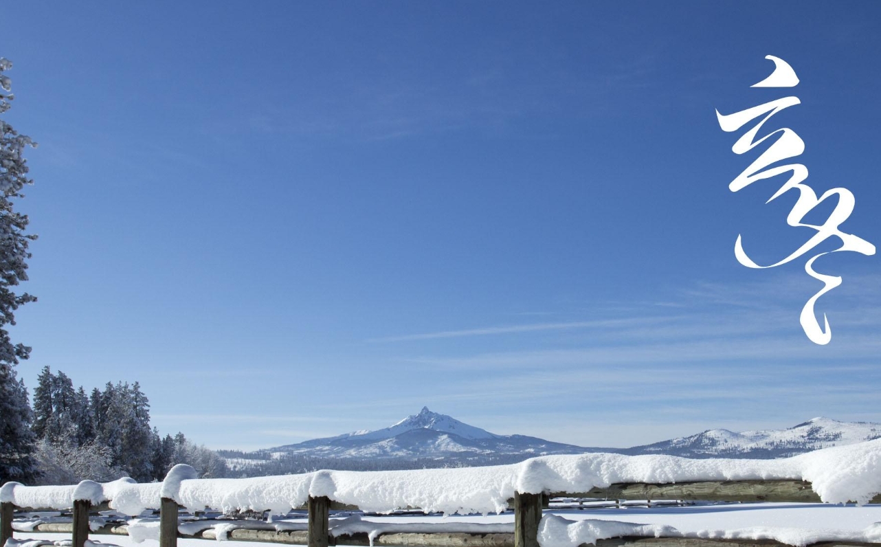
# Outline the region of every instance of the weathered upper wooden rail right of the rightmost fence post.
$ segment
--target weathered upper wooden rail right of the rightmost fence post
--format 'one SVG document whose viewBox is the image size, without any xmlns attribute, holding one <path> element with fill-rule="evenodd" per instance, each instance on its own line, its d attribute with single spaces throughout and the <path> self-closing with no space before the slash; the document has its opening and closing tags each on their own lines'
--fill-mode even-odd
<svg viewBox="0 0 881 547">
<path fill-rule="evenodd" d="M 611 484 L 590 492 L 558 492 L 552 498 L 685 499 L 707 501 L 775 501 L 819 503 L 811 483 L 796 480 L 706 481 L 677 484 Z M 881 494 L 870 503 L 881 503 Z"/>
</svg>

